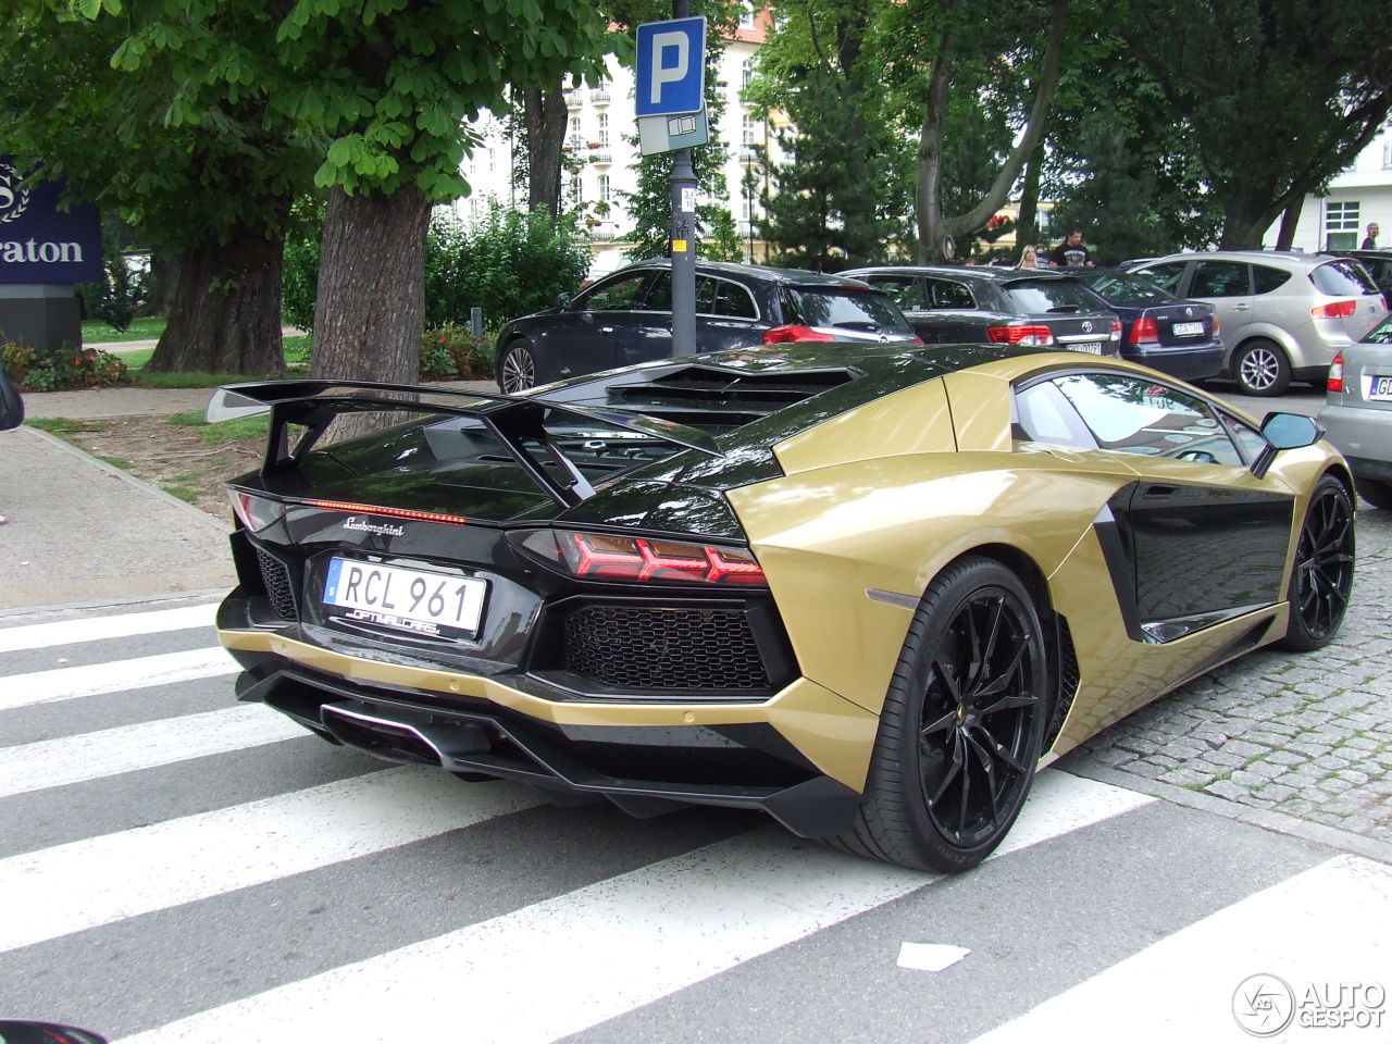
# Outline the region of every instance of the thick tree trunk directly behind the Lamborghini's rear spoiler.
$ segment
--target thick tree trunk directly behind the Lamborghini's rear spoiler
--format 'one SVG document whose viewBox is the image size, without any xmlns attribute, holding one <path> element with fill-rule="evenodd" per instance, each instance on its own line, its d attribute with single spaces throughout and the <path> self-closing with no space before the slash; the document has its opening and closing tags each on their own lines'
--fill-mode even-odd
<svg viewBox="0 0 1392 1044">
<path fill-rule="evenodd" d="M 415 187 L 329 192 L 310 376 L 416 381 L 429 227 L 430 203 Z"/>
</svg>

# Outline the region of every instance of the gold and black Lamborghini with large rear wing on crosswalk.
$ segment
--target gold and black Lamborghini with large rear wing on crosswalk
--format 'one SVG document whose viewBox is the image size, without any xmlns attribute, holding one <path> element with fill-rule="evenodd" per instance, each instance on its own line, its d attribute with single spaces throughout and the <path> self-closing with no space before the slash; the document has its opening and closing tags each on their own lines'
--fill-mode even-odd
<svg viewBox="0 0 1392 1044">
<path fill-rule="evenodd" d="M 1011 345 L 778 345 L 526 395 L 333 381 L 231 483 L 238 696 L 638 816 L 763 809 L 912 867 L 1217 664 L 1317 649 L 1352 482 L 1310 418 Z M 330 441 L 335 418 L 388 413 Z"/>
</svg>

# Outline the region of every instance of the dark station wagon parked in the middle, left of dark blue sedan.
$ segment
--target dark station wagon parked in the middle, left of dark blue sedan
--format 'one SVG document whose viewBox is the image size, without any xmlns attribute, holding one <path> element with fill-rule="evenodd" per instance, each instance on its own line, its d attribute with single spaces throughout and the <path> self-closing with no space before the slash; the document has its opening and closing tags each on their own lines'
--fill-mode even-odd
<svg viewBox="0 0 1392 1044">
<path fill-rule="evenodd" d="M 876 267 L 841 273 L 889 294 L 927 344 L 1030 344 L 1116 355 L 1121 323 L 1075 273 Z"/>
</svg>

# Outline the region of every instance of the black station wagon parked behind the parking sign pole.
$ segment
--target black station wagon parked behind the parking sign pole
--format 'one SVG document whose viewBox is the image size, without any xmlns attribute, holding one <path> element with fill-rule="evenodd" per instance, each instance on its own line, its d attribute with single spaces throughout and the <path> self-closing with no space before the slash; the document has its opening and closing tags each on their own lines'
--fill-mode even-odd
<svg viewBox="0 0 1392 1044">
<path fill-rule="evenodd" d="M 839 276 L 760 264 L 696 263 L 696 351 L 793 341 L 912 341 L 883 291 Z M 498 387 L 514 394 L 564 377 L 672 354 L 671 262 L 629 264 L 498 334 Z"/>
</svg>

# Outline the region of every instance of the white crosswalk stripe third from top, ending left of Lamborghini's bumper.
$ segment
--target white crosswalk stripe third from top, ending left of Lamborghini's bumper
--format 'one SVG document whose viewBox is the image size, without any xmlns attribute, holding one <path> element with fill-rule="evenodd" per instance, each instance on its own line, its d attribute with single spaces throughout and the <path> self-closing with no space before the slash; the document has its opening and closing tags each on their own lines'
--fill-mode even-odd
<svg viewBox="0 0 1392 1044">
<path fill-rule="evenodd" d="M 259 703 L 0 748 L 0 798 L 308 736 Z"/>
</svg>

